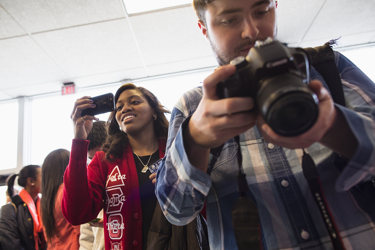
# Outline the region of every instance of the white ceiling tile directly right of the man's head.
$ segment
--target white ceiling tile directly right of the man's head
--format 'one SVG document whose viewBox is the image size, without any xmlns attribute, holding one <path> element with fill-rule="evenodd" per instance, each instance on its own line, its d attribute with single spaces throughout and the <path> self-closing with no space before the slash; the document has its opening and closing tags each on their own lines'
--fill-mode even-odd
<svg viewBox="0 0 375 250">
<path fill-rule="evenodd" d="M 286 43 L 298 42 L 323 3 L 324 0 L 279 0 L 276 8 L 278 39 Z"/>
</svg>

